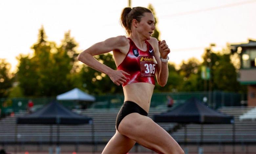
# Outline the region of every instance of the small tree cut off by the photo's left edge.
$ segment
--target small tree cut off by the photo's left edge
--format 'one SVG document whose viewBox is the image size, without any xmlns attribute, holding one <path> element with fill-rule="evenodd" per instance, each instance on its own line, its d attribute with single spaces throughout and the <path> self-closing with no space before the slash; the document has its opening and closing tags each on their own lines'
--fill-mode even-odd
<svg viewBox="0 0 256 154">
<path fill-rule="evenodd" d="M 8 89 L 11 88 L 13 78 L 10 73 L 11 64 L 5 59 L 0 59 L 0 98 L 8 96 Z"/>
</svg>

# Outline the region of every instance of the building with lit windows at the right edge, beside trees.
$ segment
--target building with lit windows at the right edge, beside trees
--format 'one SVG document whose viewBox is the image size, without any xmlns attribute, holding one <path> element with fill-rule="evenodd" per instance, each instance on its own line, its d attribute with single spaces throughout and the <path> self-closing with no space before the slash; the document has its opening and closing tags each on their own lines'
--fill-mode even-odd
<svg viewBox="0 0 256 154">
<path fill-rule="evenodd" d="M 238 80 L 247 85 L 247 104 L 256 106 L 256 41 L 248 40 L 248 43 L 232 44 L 231 52 L 240 55 L 241 67 Z"/>
</svg>

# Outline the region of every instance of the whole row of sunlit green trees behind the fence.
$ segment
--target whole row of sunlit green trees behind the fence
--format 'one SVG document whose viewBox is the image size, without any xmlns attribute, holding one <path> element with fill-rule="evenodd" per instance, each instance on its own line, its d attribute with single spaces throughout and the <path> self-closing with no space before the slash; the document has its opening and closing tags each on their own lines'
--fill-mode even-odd
<svg viewBox="0 0 256 154">
<path fill-rule="evenodd" d="M 154 12 L 152 6 L 149 6 Z M 157 38 L 159 35 L 157 35 Z M 20 55 L 15 77 L 10 75 L 10 64 L 0 59 L 0 97 L 20 96 L 56 96 L 74 87 L 90 94 L 123 93 L 122 86 L 115 85 L 104 73 L 77 62 L 78 44 L 70 31 L 64 34 L 61 44 L 47 41 L 44 28 L 39 29 L 38 40 L 32 45 L 33 55 Z M 244 86 L 237 81 L 237 71 L 231 62 L 229 53 L 212 52 L 206 48 L 203 62 L 195 58 L 183 61 L 180 68 L 168 63 L 168 81 L 166 86 L 155 86 L 154 92 L 203 91 L 207 90 L 241 91 Z M 113 54 L 94 56 L 100 63 L 117 69 Z M 201 67 L 210 67 L 210 81 L 201 78 Z M 17 87 L 11 85 L 15 81 Z M 210 87 L 209 87 L 209 83 Z"/>
</svg>

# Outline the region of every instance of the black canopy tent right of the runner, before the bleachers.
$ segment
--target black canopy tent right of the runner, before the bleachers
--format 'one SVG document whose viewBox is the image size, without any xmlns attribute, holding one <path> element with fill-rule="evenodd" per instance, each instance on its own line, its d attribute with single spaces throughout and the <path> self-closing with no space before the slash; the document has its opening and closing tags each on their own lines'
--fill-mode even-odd
<svg viewBox="0 0 256 154">
<path fill-rule="evenodd" d="M 186 145 L 186 124 L 201 124 L 201 141 L 203 142 L 203 124 L 233 124 L 233 143 L 235 141 L 234 117 L 228 116 L 204 105 L 195 97 L 187 100 L 183 105 L 174 110 L 154 115 L 156 123 L 181 123 L 184 125 L 184 143 Z"/>
</svg>

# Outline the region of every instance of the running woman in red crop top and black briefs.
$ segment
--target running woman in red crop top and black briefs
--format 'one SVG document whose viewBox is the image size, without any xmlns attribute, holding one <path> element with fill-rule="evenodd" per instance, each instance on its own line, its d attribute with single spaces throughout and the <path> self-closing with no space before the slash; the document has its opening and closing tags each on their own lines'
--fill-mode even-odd
<svg viewBox="0 0 256 154">
<path fill-rule="evenodd" d="M 126 36 L 98 42 L 81 52 L 78 60 L 107 74 L 117 85 L 122 85 L 124 104 L 116 120 L 116 134 L 102 154 L 126 154 L 137 142 L 162 154 L 184 154 L 180 145 L 163 128 L 147 117 L 155 87 L 168 79 L 166 42 L 151 35 L 156 29 L 153 13 L 143 7 L 124 8 L 120 21 Z M 101 64 L 93 56 L 113 51 L 117 70 Z"/>
</svg>

